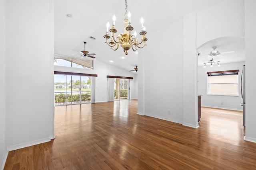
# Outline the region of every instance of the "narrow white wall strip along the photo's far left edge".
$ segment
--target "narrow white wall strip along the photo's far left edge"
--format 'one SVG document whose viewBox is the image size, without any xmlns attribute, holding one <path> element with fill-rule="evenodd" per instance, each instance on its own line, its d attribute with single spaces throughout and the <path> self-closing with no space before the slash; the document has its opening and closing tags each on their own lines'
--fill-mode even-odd
<svg viewBox="0 0 256 170">
<path fill-rule="evenodd" d="M 0 0 L 0 169 L 4 168 L 6 150 L 6 107 L 5 107 L 5 0 Z"/>
</svg>

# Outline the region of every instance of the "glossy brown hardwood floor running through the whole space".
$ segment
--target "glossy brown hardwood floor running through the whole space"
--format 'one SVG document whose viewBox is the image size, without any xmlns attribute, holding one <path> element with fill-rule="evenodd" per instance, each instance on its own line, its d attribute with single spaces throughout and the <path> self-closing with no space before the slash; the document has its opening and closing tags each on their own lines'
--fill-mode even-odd
<svg viewBox="0 0 256 170">
<path fill-rule="evenodd" d="M 256 169 L 241 111 L 202 107 L 198 129 L 136 113 L 136 100 L 55 107 L 56 139 L 9 152 L 4 170 Z"/>
</svg>

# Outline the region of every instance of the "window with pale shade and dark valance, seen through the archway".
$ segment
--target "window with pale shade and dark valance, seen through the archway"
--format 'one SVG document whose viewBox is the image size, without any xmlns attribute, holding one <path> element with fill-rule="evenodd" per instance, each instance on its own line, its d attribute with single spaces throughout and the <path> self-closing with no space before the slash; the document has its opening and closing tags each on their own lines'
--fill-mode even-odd
<svg viewBox="0 0 256 170">
<path fill-rule="evenodd" d="M 207 72 L 208 95 L 238 96 L 238 71 Z"/>
</svg>

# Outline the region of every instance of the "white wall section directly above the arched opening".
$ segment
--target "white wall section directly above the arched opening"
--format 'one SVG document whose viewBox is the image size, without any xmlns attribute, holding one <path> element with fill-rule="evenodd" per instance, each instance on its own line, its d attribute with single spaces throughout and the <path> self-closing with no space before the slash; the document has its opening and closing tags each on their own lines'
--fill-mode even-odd
<svg viewBox="0 0 256 170">
<path fill-rule="evenodd" d="M 244 37 L 244 0 L 224 0 L 197 12 L 197 47 L 226 36 Z"/>
</svg>

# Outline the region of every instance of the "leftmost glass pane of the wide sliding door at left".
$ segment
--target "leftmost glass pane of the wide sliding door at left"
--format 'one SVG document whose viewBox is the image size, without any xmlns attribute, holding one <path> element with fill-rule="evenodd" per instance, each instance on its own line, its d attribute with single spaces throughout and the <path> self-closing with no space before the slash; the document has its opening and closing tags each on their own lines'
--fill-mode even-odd
<svg viewBox="0 0 256 170">
<path fill-rule="evenodd" d="M 55 106 L 66 104 L 66 75 L 54 75 Z"/>
</svg>

